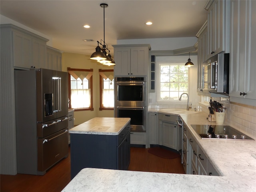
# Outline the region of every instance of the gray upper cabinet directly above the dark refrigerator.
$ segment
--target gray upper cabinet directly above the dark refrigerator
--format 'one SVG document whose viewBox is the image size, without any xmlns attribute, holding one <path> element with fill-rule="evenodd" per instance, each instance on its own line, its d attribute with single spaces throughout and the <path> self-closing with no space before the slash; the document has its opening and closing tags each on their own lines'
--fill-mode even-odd
<svg viewBox="0 0 256 192">
<path fill-rule="evenodd" d="M 3 46 L 12 53 L 9 62 L 13 61 L 14 68 L 45 67 L 48 39 L 12 24 L 1 25 L 1 34 L 5 36 Z"/>
</svg>

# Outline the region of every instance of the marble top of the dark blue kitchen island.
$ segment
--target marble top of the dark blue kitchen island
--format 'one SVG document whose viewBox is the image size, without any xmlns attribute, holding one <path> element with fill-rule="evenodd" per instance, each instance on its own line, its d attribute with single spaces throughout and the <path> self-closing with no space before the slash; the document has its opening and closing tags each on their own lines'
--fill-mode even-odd
<svg viewBox="0 0 256 192">
<path fill-rule="evenodd" d="M 71 134 L 118 135 L 130 120 L 130 118 L 96 117 L 75 126 L 69 132 Z"/>
</svg>

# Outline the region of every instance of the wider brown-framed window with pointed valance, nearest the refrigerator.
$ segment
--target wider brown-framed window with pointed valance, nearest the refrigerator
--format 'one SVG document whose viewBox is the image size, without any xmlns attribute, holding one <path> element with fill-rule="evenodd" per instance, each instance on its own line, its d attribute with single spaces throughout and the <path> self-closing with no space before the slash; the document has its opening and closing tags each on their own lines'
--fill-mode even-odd
<svg viewBox="0 0 256 192">
<path fill-rule="evenodd" d="M 69 108 L 74 110 L 93 110 L 92 72 L 93 69 L 68 68 Z"/>
</svg>

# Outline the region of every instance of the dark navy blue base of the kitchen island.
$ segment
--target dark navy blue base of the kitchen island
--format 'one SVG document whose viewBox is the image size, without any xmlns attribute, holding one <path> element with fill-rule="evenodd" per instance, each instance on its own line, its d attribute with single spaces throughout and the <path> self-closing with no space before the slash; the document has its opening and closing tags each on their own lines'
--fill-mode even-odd
<svg viewBox="0 0 256 192">
<path fill-rule="evenodd" d="M 130 124 L 118 135 L 70 134 L 71 179 L 83 168 L 127 170 Z"/>
</svg>

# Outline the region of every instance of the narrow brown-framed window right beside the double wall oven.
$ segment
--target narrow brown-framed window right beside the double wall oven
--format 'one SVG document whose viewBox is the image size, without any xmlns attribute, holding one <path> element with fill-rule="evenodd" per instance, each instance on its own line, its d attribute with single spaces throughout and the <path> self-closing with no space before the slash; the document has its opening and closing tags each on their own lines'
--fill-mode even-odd
<svg viewBox="0 0 256 192">
<path fill-rule="evenodd" d="M 114 70 L 99 69 L 100 110 L 114 110 Z"/>
</svg>

